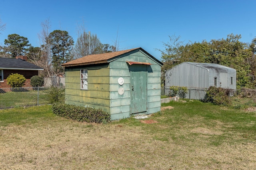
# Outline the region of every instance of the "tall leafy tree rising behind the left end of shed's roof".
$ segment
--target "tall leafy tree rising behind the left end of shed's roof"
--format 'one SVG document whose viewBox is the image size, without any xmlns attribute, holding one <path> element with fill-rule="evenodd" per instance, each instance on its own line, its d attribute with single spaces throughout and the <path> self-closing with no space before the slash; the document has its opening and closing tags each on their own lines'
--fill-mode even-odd
<svg viewBox="0 0 256 170">
<path fill-rule="evenodd" d="M 74 41 L 67 31 L 54 30 L 49 35 L 51 51 L 52 51 L 52 66 L 55 73 L 62 72 L 61 64 L 72 59 L 71 49 Z"/>
</svg>

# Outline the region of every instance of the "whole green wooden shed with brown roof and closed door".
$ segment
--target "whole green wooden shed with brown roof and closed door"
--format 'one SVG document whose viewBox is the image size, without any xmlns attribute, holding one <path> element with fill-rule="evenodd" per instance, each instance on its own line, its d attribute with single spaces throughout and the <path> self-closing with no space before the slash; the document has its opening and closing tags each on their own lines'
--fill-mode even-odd
<svg viewBox="0 0 256 170">
<path fill-rule="evenodd" d="M 112 120 L 156 113 L 161 107 L 162 65 L 142 48 L 64 63 L 66 104 L 100 108 Z"/>
</svg>

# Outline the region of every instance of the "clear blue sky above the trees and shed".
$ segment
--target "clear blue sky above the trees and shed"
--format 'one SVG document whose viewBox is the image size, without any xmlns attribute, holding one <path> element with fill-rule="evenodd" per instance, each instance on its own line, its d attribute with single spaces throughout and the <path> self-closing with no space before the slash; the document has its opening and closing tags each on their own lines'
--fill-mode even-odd
<svg viewBox="0 0 256 170">
<path fill-rule="evenodd" d="M 50 31 L 68 31 L 74 41 L 84 23 L 102 43 L 112 45 L 118 35 L 120 50 L 142 47 L 161 60 L 156 49 L 163 50 L 174 34 L 187 43 L 233 33 L 250 43 L 256 37 L 255 7 L 255 0 L 0 0 L 6 23 L 0 44 L 16 33 L 38 47 L 41 23 L 49 19 Z"/>
</svg>

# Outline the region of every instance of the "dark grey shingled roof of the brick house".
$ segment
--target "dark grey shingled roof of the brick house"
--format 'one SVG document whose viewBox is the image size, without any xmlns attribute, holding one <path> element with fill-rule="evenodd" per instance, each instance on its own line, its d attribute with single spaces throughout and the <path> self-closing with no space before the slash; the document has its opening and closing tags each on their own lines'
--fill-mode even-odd
<svg viewBox="0 0 256 170">
<path fill-rule="evenodd" d="M 28 63 L 21 59 L 0 58 L 0 69 L 12 70 L 44 70 L 35 64 Z"/>
</svg>

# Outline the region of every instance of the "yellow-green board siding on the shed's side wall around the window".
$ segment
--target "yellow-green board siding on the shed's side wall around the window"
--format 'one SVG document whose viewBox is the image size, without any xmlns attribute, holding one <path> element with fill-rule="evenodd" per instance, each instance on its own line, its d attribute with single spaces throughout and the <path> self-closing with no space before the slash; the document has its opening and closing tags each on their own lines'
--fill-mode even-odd
<svg viewBox="0 0 256 170">
<path fill-rule="evenodd" d="M 88 69 L 88 90 L 81 90 L 80 69 Z M 110 113 L 108 64 L 65 68 L 66 104 L 101 108 Z"/>
</svg>

